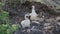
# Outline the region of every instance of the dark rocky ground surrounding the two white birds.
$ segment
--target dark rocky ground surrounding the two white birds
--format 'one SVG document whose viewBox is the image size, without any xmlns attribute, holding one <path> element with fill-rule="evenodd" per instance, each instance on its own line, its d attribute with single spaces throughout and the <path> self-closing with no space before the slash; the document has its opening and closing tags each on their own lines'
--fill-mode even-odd
<svg viewBox="0 0 60 34">
<path fill-rule="evenodd" d="M 13 3 L 12 3 L 13 4 Z M 31 13 L 31 6 L 35 5 L 36 13 L 40 16 L 45 16 L 40 24 L 31 23 L 28 29 L 20 28 L 14 34 L 60 34 L 60 15 L 56 13 L 52 7 L 48 7 L 40 2 L 25 2 L 18 4 L 16 7 L 11 7 L 8 3 L 3 7 L 3 10 L 9 12 L 12 24 L 20 24 L 24 20 L 26 13 Z M 41 12 L 43 15 L 41 15 Z"/>
</svg>

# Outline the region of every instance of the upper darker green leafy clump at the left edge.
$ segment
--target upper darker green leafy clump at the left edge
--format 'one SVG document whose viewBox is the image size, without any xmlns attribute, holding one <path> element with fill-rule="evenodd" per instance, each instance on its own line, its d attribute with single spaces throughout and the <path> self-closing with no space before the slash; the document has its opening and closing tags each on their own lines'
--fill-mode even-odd
<svg viewBox="0 0 60 34">
<path fill-rule="evenodd" d="M 9 23 L 10 20 L 9 20 L 9 13 L 7 11 L 1 11 L 0 13 L 0 21 L 2 23 Z"/>
</svg>

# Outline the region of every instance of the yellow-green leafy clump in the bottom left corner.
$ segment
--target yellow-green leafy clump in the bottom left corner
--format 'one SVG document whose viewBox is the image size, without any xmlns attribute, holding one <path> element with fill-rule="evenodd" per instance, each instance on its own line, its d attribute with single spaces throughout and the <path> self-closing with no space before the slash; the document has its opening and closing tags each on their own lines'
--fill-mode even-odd
<svg viewBox="0 0 60 34">
<path fill-rule="evenodd" d="M 0 25 L 0 34 L 12 34 L 14 31 L 16 31 L 19 28 L 18 24 L 2 24 Z"/>
</svg>

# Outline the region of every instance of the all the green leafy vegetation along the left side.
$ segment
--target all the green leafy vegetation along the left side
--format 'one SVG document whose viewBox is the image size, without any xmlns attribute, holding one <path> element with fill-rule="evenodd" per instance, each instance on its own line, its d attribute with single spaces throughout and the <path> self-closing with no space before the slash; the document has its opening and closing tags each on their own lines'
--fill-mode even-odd
<svg viewBox="0 0 60 34">
<path fill-rule="evenodd" d="M 19 28 L 19 24 L 11 24 L 9 12 L 0 11 L 0 34 L 12 34 Z"/>
</svg>

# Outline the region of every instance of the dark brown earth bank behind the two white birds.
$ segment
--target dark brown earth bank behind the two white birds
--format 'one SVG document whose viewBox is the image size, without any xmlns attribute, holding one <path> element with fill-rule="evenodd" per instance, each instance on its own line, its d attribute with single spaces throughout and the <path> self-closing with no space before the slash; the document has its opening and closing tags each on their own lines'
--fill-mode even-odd
<svg viewBox="0 0 60 34">
<path fill-rule="evenodd" d="M 35 6 L 36 13 L 39 14 L 39 16 L 40 12 L 42 12 L 43 15 L 45 15 L 47 18 L 59 16 L 59 13 L 56 13 L 52 7 L 49 7 L 40 2 L 26 1 L 25 3 L 17 4 L 15 7 L 14 3 L 6 3 L 6 5 L 3 7 L 3 10 L 9 12 L 9 16 L 13 22 L 16 21 L 17 23 L 20 23 L 22 20 L 24 20 L 24 15 L 26 13 L 31 13 L 32 5 Z"/>
</svg>

